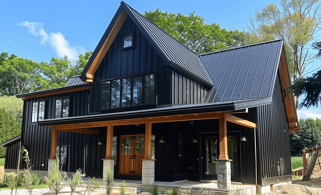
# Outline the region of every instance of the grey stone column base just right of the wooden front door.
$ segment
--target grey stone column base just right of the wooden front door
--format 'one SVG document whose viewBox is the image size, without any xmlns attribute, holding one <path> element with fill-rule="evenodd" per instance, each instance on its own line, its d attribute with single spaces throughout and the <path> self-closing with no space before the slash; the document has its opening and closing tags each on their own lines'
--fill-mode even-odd
<svg viewBox="0 0 321 195">
<path fill-rule="evenodd" d="M 155 159 L 142 159 L 142 184 L 154 184 L 155 182 Z"/>
</svg>

